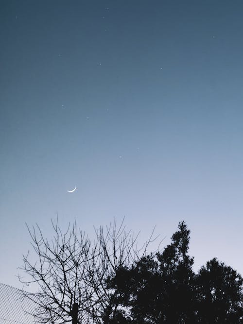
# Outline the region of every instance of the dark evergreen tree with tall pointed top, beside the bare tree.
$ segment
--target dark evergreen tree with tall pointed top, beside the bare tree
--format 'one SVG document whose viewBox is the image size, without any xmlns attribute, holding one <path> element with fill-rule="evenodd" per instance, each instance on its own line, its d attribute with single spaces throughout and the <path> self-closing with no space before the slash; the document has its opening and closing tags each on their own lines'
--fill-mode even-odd
<svg viewBox="0 0 243 324">
<path fill-rule="evenodd" d="M 121 268 L 110 282 L 120 305 L 134 323 L 194 323 L 193 258 L 188 255 L 190 231 L 185 222 L 163 253 L 143 256 L 130 269 Z"/>
</svg>

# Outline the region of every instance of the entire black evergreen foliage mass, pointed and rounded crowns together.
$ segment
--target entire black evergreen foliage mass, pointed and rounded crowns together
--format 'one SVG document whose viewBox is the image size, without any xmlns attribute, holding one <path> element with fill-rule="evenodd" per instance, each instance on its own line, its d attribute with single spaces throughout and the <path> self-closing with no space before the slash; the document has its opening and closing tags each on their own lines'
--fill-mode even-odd
<svg viewBox="0 0 243 324">
<path fill-rule="evenodd" d="M 216 258 L 194 273 L 185 222 L 171 239 L 162 253 L 122 267 L 109 282 L 128 310 L 111 323 L 243 323 L 242 276 Z"/>
</svg>

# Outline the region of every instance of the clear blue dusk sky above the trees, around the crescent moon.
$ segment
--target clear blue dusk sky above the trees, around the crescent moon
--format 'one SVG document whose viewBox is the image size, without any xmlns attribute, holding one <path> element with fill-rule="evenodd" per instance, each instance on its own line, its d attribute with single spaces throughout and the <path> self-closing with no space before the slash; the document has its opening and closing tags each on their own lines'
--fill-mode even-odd
<svg viewBox="0 0 243 324">
<path fill-rule="evenodd" d="M 243 2 L 0 0 L 0 281 L 76 218 L 191 230 L 243 274 Z M 73 193 L 67 192 L 77 187 Z"/>
</svg>

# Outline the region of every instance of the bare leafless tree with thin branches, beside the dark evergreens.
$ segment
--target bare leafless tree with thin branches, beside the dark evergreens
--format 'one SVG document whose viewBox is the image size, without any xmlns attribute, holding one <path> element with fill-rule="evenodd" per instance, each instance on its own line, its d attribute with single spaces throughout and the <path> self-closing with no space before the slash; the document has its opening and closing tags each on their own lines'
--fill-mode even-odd
<svg viewBox="0 0 243 324">
<path fill-rule="evenodd" d="M 109 289 L 107 281 L 122 266 L 129 266 L 145 255 L 149 243 L 154 241 L 154 230 L 138 248 L 138 235 L 125 231 L 123 225 L 95 229 L 96 239 L 91 241 L 77 228 L 76 222 L 63 234 L 52 221 L 54 236 L 44 239 L 39 226 L 28 227 L 32 246 L 37 256 L 30 261 L 23 256 L 23 267 L 28 280 L 19 276 L 24 284 L 37 283 L 38 292 L 25 292 L 35 302 L 35 316 L 39 323 L 108 324 L 114 319 L 119 305 L 116 291 Z"/>
</svg>

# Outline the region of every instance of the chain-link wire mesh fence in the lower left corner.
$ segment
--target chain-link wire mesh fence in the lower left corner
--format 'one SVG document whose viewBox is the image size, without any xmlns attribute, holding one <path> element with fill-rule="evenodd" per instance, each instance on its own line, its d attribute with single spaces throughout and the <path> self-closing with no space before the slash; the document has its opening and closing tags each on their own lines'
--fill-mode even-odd
<svg viewBox="0 0 243 324">
<path fill-rule="evenodd" d="M 23 297 L 23 290 L 0 283 L 0 324 L 34 324 L 35 304 Z"/>
</svg>

